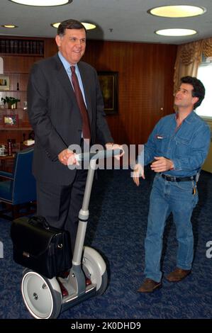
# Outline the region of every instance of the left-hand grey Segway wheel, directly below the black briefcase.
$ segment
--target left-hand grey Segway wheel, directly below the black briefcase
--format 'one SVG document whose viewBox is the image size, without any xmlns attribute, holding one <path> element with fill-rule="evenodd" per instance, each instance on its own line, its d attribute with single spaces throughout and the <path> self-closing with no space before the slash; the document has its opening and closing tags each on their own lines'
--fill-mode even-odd
<svg viewBox="0 0 212 333">
<path fill-rule="evenodd" d="M 56 278 L 48 279 L 26 269 L 21 293 L 28 311 L 36 319 L 53 319 L 60 314 L 62 294 Z"/>
</svg>

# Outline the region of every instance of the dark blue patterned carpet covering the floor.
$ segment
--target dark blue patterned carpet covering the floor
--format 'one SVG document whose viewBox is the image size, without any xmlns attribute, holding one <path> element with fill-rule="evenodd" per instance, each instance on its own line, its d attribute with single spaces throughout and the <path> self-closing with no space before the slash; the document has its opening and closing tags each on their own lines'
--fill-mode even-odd
<svg viewBox="0 0 212 333">
<path fill-rule="evenodd" d="M 91 195 L 86 244 L 99 250 L 108 265 L 109 284 L 104 295 L 90 298 L 60 315 L 68 319 L 177 319 L 212 317 L 212 258 L 206 257 L 206 242 L 212 241 L 212 175 L 204 171 L 199 180 L 199 204 L 194 210 L 194 266 L 180 283 L 168 283 L 143 295 L 144 239 L 152 184 L 152 172 L 137 188 L 130 171 L 100 171 Z M 21 297 L 22 267 L 13 262 L 11 222 L 0 220 L 0 318 L 31 318 Z M 172 217 L 164 233 L 162 271 L 175 266 L 177 241 Z"/>
</svg>

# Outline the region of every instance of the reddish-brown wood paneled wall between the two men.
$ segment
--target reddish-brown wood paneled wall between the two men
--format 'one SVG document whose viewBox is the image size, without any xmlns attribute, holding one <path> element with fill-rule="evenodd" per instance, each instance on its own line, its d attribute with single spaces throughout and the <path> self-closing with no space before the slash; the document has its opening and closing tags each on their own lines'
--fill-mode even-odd
<svg viewBox="0 0 212 333">
<path fill-rule="evenodd" d="M 142 144 L 155 123 L 173 112 L 177 45 L 87 41 L 83 60 L 118 72 L 118 115 L 107 120 L 114 140 Z"/>
</svg>

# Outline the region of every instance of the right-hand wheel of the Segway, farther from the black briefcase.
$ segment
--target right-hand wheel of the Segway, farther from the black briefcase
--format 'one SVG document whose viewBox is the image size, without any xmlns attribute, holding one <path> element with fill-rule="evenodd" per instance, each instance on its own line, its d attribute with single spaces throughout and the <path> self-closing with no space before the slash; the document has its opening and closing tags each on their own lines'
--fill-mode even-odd
<svg viewBox="0 0 212 333">
<path fill-rule="evenodd" d="M 108 286 L 106 263 L 102 256 L 91 247 L 84 247 L 82 269 L 85 275 L 96 284 L 96 295 L 102 295 Z"/>
</svg>

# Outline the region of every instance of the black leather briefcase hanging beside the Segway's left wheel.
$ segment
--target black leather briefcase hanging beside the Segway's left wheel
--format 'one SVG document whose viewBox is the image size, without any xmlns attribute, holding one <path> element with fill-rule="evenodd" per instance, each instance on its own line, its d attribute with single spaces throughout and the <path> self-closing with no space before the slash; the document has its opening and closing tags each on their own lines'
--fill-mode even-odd
<svg viewBox="0 0 212 333">
<path fill-rule="evenodd" d="M 45 218 L 18 218 L 11 225 L 13 259 L 47 278 L 72 266 L 69 232 L 50 227 Z"/>
</svg>

